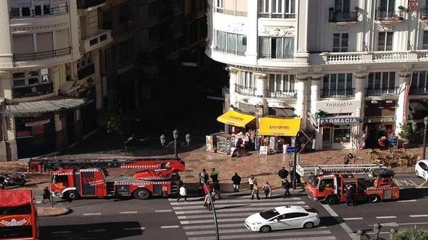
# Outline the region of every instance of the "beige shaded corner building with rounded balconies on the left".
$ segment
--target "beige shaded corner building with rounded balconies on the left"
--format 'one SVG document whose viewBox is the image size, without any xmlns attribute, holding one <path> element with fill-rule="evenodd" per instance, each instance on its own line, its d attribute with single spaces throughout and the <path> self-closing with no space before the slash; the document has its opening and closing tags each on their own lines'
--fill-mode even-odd
<svg viewBox="0 0 428 240">
<path fill-rule="evenodd" d="M 0 161 L 80 143 L 102 108 L 105 0 L 0 1 Z"/>
</svg>

